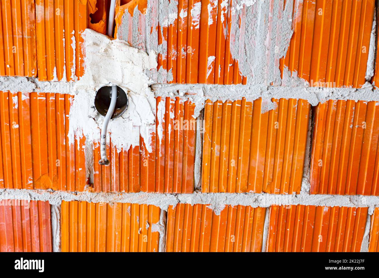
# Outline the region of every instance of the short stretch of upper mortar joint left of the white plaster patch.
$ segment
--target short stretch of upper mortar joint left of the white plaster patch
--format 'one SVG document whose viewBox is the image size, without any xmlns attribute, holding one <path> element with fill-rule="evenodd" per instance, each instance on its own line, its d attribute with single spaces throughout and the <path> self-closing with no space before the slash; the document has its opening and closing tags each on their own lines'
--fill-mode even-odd
<svg viewBox="0 0 379 278">
<path fill-rule="evenodd" d="M 74 94 L 74 83 L 38 81 L 38 79 L 34 77 L 0 76 L 0 90 L 10 92 L 44 92 Z"/>
</svg>

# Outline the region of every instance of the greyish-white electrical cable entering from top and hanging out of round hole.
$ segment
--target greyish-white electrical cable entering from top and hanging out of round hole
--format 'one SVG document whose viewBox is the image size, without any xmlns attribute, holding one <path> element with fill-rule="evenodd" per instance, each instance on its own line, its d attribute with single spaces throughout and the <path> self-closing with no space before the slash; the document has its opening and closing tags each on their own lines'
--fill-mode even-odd
<svg viewBox="0 0 379 278">
<path fill-rule="evenodd" d="M 109 17 L 108 17 L 108 36 L 113 37 L 113 22 L 114 22 L 114 12 L 116 8 L 116 0 L 111 0 L 111 6 L 109 9 Z M 115 85 L 112 85 L 112 96 L 111 96 L 111 104 L 109 106 L 108 112 L 106 112 L 103 126 L 101 127 L 101 134 L 100 134 L 100 156 L 101 159 L 99 160 L 100 165 L 106 165 L 108 166 L 110 164 L 110 161 L 106 157 L 106 130 L 108 129 L 109 121 L 112 118 L 114 107 L 116 107 L 116 100 L 117 100 L 117 87 Z"/>
</svg>

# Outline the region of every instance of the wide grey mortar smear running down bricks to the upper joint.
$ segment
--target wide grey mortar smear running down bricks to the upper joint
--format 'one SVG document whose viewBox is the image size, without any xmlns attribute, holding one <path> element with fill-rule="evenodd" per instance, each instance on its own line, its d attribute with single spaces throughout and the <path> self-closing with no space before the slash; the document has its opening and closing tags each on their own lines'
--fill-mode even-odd
<svg viewBox="0 0 379 278">
<path fill-rule="evenodd" d="M 231 10 L 230 52 L 248 84 L 281 83 L 279 59 L 293 34 L 293 0 L 236 0 Z M 296 11 L 295 11 L 296 12 Z M 251 16 L 241 17 L 242 13 Z"/>
</svg>

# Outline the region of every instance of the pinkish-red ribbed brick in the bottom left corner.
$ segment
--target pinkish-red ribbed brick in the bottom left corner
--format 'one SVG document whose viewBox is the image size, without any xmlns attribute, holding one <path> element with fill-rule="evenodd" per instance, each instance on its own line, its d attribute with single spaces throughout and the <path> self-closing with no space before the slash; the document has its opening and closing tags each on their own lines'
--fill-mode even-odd
<svg viewBox="0 0 379 278">
<path fill-rule="evenodd" d="M 52 252 L 50 204 L 0 200 L 0 252 Z"/>
</svg>

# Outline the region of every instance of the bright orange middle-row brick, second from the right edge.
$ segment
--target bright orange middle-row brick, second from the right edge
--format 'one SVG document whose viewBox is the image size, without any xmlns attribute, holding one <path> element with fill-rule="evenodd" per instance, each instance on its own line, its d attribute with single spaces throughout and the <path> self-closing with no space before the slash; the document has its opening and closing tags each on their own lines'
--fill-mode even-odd
<svg viewBox="0 0 379 278">
<path fill-rule="evenodd" d="M 273 99 L 261 113 L 254 102 L 207 100 L 202 191 L 299 193 L 310 105 L 302 99 Z"/>
</svg>

